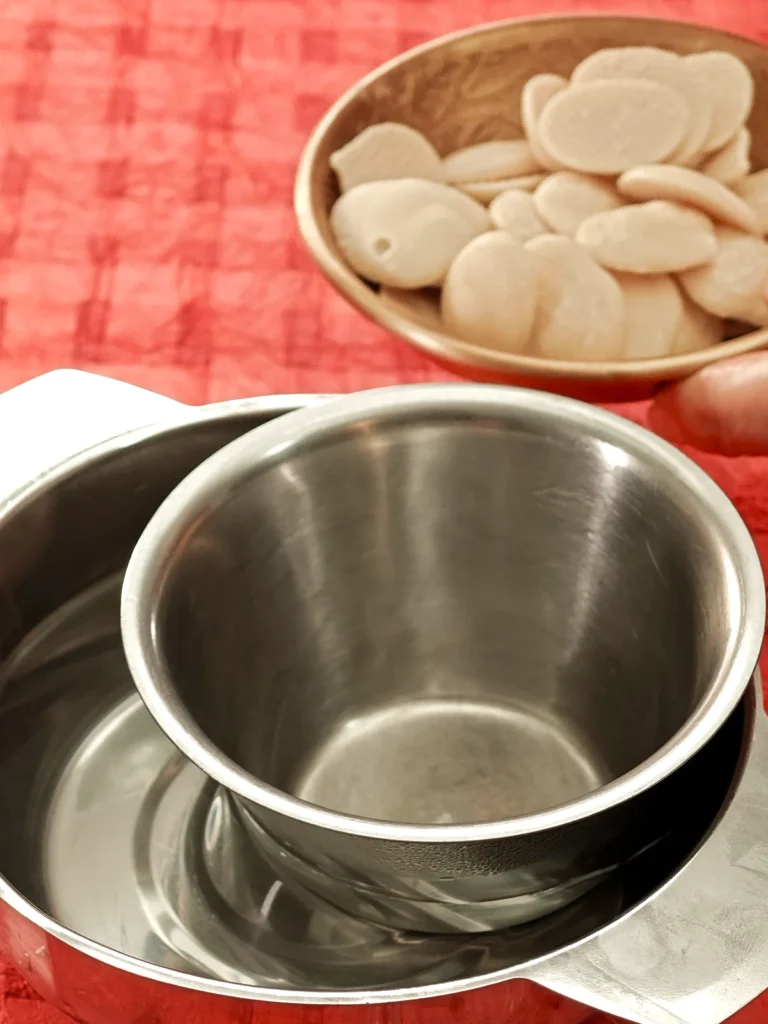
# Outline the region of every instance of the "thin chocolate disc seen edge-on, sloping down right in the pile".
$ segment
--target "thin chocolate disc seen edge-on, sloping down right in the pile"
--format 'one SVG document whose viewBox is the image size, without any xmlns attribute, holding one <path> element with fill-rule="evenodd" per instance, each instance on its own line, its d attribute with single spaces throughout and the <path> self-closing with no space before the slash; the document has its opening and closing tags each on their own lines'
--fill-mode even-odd
<svg viewBox="0 0 768 1024">
<path fill-rule="evenodd" d="M 634 167 L 620 177 L 616 187 L 630 199 L 687 203 L 713 220 L 743 231 L 757 231 L 755 214 L 742 199 L 719 181 L 687 167 L 665 164 Z"/>
</svg>

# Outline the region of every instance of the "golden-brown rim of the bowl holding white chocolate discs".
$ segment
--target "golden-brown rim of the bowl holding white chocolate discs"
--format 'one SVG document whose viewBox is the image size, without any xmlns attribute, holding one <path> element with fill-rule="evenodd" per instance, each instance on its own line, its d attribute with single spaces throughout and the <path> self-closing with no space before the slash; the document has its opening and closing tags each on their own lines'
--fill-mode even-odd
<svg viewBox="0 0 768 1024">
<path fill-rule="evenodd" d="M 294 180 L 294 213 L 299 232 L 309 254 L 317 264 L 324 276 L 351 304 L 369 319 L 378 324 L 391 334 L 396 335 L 415 348 L 438 361 L 451 364 L 453 367 L 469 368 L 481 372 L 501 373 L 518 378 L 543 378 L 564 381 L 583 381 L 585 383 L 610 383 L 633 381 L 663 381 L 687 377 L 703 367 L 718 362 L 724 358 L 732 358 L 761 348 L 768 347 L 768 327 L 756 328 L 749 334 L 740 335 L 729 341 L 721 341 L 715 345 L 696 352 L 682 355 L 665 355 L 649 359 L 613 359 L 590 362 L 586 360 L 551 359 L 535 355 L 523 355 L 514 352 L 503 352 L 480 345 L 462 341 L 447 333 L 434 331 L 402 315 L 396 309 L 382 303 L 375 292 L 359 278 L 351 267 L 336 255 L 328 245 L 319 228 L 318 220 L 312 209 L 312 177 L 317 154 L 325 141 L 325 136 L 347 104 L 361 90 L 384 78 L 391 71 L 403 63 L 465 39 L 490 35 L 500 30 L 518 25 L 557 25 L 566 29 L 580 22 L 615 22 L 631 25 L 669 25 L 681 29 L 697 29 L 726 42 L 736 40 L 754 45 L 766 51 L 768 45 L 748 36 L 718 29 L 696 22 L 685 22 L 678 18 L 660 18 L 634 14 L 611 14 L 584 11 L 574 14 L 541 14 L 504 18 L 487 22 L 482 25 L 462 29 L 430 39 L 419 46 L 412 47 L 391 59 L 379 65 L 369 72 L 354 85 L 346 89 L 334 101 L 315 125 L 299 158 Z"/>
</svg>

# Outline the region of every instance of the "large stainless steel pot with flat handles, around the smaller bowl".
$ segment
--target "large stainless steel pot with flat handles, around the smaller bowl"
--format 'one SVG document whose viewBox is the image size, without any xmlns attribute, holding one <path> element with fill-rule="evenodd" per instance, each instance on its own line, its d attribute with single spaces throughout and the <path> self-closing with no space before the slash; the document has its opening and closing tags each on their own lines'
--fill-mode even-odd
<svg viewBox="0 0 768 1024">
<path fill-rule="evenodd" d="M 532 925 L 404 935 L 229 870 L 230 801 L 132 692 L 119 584 L 186 472 L 306 400 L 185 409 L 68 372 L 0 395 L 0 955 L 84 1024 L 503 1021 L 531 981 L 642 1024 L 730 1019 L 768 985 L 759 686 L 686 766 L 670 842 Z"/>
</svg>

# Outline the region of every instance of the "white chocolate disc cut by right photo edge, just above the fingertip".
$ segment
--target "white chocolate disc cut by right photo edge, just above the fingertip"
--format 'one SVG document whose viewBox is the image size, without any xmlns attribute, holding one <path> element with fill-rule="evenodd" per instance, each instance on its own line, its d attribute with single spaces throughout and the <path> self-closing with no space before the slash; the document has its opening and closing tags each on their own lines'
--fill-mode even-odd
<svg viewBox="0 0 768 1024">
<path fill-rule="evenodd" d="M 717 243 L 711 263 L 680 274 L 686 293 L 715 316 L 768 326 L 768 243 L 729 227 Z"/>
</svg>

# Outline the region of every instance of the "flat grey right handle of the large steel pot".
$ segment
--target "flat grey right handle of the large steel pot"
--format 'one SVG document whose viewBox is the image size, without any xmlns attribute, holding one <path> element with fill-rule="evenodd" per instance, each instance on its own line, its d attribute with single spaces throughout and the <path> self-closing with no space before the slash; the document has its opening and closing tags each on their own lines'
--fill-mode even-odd
<svg viewBox="0 0 768 1024">
<path fill-rule="evenodd" d="M 768 720 L 700 850 L 644 906 L 526 977 L 640 1024 L 722 1024 L 768 987 Z"/>
</svg>

